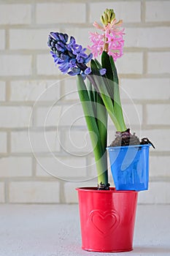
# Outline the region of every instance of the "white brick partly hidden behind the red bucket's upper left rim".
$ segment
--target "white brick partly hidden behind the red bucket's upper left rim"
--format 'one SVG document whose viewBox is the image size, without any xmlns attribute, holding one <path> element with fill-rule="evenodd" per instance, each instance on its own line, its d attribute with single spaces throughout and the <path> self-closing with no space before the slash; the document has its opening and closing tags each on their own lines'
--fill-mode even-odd
<svg viewBox="0 0 170 256">
<path fill-rule="evenodd" d="M 66 182 L 64 184 L 65 203 L 78 203 L 77 187 L 96 187 L 97 181 Z"/>
</svg>

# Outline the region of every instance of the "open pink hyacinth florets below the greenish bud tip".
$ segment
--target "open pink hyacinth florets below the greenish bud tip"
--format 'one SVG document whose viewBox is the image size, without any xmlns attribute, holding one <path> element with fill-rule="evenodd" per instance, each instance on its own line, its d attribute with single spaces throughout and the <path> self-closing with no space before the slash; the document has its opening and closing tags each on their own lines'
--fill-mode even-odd
<svg viewBox="0 0 170 256">
<path fill-rule="evenodd" d="M 90 49 L 91 53 L 93 53 L 95 58 L 98 55 L 101 55 L 103 50 L 106 50 L 106 46 L 107 53 L 112 56 L 114 61 L 123 56 L 124 29 L 120 28 L 121 24 L 122 20 L 117 22 L 116 19 L 112 20 L 111 23 L 108 23 L 107 26 L 103 27 L 96 22 L 93 23 L 93 26 L 103 31 L 102 34 L 98 34 L 97 32 L 90 32 L 90 42 L 92 42 L 92 45 L 88 45 L 88 48 Z"/>
</svg>

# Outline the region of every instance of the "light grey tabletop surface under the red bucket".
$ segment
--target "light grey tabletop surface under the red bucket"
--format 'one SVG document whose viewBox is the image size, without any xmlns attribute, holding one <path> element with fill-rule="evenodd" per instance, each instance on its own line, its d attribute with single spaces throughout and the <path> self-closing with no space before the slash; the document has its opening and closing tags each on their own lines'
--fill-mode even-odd
<svg viewBox="0 0 170 256">
<path fill-rule="evenodd" d="M 170 206 L 138 206 L 134 251 L 81 249 L 77 205 L 1 205 L 0 256 L 170 255 Z"/>
</svg>

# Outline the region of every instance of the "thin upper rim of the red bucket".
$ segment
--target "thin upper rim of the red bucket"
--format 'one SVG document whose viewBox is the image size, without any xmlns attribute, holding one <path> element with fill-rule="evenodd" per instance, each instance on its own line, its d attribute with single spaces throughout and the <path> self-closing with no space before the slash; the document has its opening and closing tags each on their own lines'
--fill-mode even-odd
<svg viewBox="0 0 170 256">
<path fill-rule="evenodd" d="M 125 193 L 138 193 L 138 191 L 135 190 L 116 190 L 115 187 L 110 187 L 109 190 L 98 190 L 98 187 L 77 187 L 77 191 L 84 191 L 84 192 L 97 192 L 97 193 L 120 193 L 120 194 L 125 194 Z"/>
</svg>

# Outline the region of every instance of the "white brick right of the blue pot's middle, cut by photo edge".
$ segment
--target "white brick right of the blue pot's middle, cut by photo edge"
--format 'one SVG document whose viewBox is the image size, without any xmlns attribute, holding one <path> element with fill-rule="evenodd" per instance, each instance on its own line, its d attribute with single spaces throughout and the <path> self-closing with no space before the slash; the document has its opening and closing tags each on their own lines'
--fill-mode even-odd
<svg viewBox="0 0 170 256">
<path fill-rule="evenodd" d="M 150 156 L 150 176 L 169 177 L 170 157 Z"/>
</svg>

